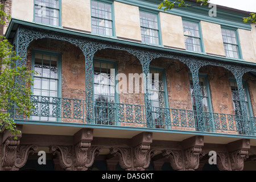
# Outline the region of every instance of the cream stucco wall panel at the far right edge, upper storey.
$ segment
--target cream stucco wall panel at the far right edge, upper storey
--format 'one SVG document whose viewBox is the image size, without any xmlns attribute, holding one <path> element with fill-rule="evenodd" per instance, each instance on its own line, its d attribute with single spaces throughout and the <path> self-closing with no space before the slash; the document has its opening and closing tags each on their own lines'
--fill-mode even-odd
<svg viewBox="0 0 256 182">
<path fill-rule="evenodd" d="M 242 58 L 245 61 L 256 62 L 251 31 L 238 29 L 238 36 L 240 40 Z"/>
</svg>

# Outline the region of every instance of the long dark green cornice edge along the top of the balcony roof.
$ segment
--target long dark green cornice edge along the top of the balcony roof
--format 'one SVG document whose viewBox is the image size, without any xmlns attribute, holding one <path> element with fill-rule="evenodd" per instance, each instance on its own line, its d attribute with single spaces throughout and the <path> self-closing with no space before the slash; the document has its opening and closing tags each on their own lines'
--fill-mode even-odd
<svg viewBox="0 0 256 182">
<path fill-rule="evenodd" d="M 70 34 L 70 35 L 75 35 L 75 36 L 81 36 L 85 38 L 92 38 L 92 39 L 98 39 L 98 40 L 105 40 L 108 42 L 114 42 L 114 43 L 121 43 L 121 44 L 126 44 L 129 46 L 138 46 L 138 47 L 143 47 L 143 48 L 150 48 L 150 49 L 155 49 L 158 51 L 168 51 L 168 52 L 174 52 L 174 53 L 181 53 L 184 55 L 191 55 L 191 56 L 197 56 L 201 57 L 203 59 L 214 59 L 214 60 L 220 60 L 220 61 L 227 61 L 227 63 L 239 63 L 239 64 L 245 64 L 245 65 L 253 65 L 255 66 L 256 63 L 250 62 L 250 61 L 245 61 L 241 59 L 230 59 L 228 57 L 222 57 L 222 56 L 216 56 L 216 55 L 208 55 L 207 53 L 201 53 L 201 52 L 191 52 L 191 51 L 183 51 L 180 49 L 175 49 L 175 48 L 167 48 L 163 46 L 152 46 L 144 43 L 138 43 L 138 42 L 133 42 L 129 40 L 123 40 L 123 39 L 117 39 L 117 38 L 106 38 L 105 36 L 100 36 L 100 35 L 92 35 L 89 33 L 85 32 L 80 32 L 80 31 L 74 31 L 74 30 L 67 30 L 64 28 L 60 27 L 53 27 L 53 26 L 48 26 L 48 25 L 43 25 L 39 23 L 34 23 L 34 22 L 27 22 L 24 20 L 12 18 L 9 27 L 7 27 L 5 37 L 6 39 L 13 39 L 15 34 L 14 32 L 17 30 L 18 25 L 23 25 L 23 26 L 29 26 L 29 27 L 34 27 L 34 28 L 41 28 L 43 30 L 49 30 L 53 32 L 60 32 L 63 34 Z"/>
</svg>

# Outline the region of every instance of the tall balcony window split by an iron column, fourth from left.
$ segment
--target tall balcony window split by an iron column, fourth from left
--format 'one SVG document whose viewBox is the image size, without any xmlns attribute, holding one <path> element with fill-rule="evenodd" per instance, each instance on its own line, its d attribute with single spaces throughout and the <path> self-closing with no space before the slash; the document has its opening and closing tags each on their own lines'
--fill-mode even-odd
<svg viewBox="0 0 256 182">
<path fill-rule="evenodd" d="M 208 77 L 207 75 L 199 75 L 199 84 L 200 84 L 200 96 L 204 111 L 204 125 L 207 131 L 212 131 L 213 129 L 213 119 L 212 119 L 212 104 L 210 100 L 210 89 L 209 89 L 209 83 L 208 83 Z M 189 75 L 189 85 L 190 85 L 190 91 L 191 91 L 191 100 L 192 100 L 192 107 L 195 111 L 196 115 L 196 100 L 195 100 L 195 92 L 194 92 L 194 86 L 193 86 L 193 78 L 192 75 Z M 196 121 L 196 127 L 198 125 L 197 118 L 195 117 Z"/>
</svg>

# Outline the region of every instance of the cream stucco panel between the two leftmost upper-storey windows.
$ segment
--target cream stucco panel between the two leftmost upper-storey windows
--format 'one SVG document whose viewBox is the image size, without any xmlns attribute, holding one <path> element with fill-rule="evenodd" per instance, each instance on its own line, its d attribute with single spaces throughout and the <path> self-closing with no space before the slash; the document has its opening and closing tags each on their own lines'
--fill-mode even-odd
<svg viewBox="0 0 256 182">
<path fill-rule="evenodd" d="M 82 31 L 92 31 L 90 0 L 62 0 L 62 26 Z"/>
</svg>

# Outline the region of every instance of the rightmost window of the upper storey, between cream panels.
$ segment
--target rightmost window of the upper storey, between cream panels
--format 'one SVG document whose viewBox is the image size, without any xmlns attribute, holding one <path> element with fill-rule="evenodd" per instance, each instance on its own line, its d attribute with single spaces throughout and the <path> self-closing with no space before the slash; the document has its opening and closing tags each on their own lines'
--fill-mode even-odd
<svg viewBox="0 0 256 182">
<path fill-rule="evenodd" d="M 240 58 L 236 31 L 221 28 L 226 57 Z"/>
</svg>

